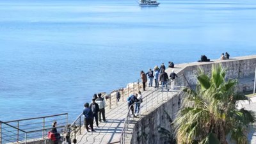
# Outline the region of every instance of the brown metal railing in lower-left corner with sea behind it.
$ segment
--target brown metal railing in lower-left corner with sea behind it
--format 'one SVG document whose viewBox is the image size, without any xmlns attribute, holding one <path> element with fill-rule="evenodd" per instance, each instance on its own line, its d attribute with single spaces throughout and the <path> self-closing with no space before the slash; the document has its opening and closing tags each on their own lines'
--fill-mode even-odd
<svg viewBox="0 0 256 144">
<path fill-rule="evenodd" d="M 60 125 L 56 127 L 59 133 L 67 132 L 67 113 L 8 122 L 0 121 L 0 144 L 27 143 L 28 140 L 44 140 L 46 143 L 47 131 L 52 129 L 52 123 L 55 121 Z"/>
</svg>

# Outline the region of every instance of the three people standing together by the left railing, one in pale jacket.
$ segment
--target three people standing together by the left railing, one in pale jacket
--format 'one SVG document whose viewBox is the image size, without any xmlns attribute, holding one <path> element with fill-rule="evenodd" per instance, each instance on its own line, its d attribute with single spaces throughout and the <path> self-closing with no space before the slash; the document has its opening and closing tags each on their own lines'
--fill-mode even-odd
<svg viewBox="0 0 256 144">
<path fill-rule="evenodd" d="M 92 103 L 89 105 L 88 102 L 84 104 L 84 127 L 86 128 L 86 131 L 89 132 L 89 129 L 93 132 L 93 119 L 95 119 L 95 123 L 97 127 L 99 127 L 99 120 L 103 120 L 103 122 L 106 122 L 105 117 L 105 107 L 106 107 L 106 100 L 104 97 L 102 97 L 101 93 L 94 94 Z M 99 118 L 98 118 L 99 115 Z M 101 119 L 102 116 L 102 119 Z M 90 128 L 88 127 L 90 125 Z"/>
</svg>

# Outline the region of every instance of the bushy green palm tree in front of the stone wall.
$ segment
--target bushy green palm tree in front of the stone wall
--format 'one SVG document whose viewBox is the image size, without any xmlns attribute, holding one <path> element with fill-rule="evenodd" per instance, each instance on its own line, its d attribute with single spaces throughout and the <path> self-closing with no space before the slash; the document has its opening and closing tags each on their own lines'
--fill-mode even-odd
<svg viewBox="0 0 256 144">
<path fill-rule="evenodd" d="M 196 90 L 188 95 L 173 125 L 179 144 L 245 144 L 250 124 L 256 122 L 253 111 L 238 109 L 238 100 L 249 100 L 237 93 L 237 80 L 225 81 L 221 65 L 212 65 L 212 74 L 198 70 Z"/>
</svg>

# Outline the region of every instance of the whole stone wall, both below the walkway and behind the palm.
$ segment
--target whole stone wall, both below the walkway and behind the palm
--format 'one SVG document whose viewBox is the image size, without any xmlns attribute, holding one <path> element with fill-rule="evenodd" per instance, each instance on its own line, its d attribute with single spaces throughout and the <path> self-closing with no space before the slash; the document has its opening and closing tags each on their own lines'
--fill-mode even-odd
<svg viewBox="0 0 256 144">
<path fill-rule="evenodd" d="M 227 69 L 226 79 L 239 79 L 239 90 L 253 90 L 253 79 L 255 76 L 256 58 L 247 58 L 243 60 L 222 60 L 206 63 L 189 63 L 184 67 L 178 75 L 184 74 L 191 86 L 196 85 L 196 74 L 199 67 L 202 67 L 208 74 L 211 73 L 212 65 L 221 63 Z M 181 98 L 184 97 L 184 92 L 174 95 L 171 99 L 164 102 L 158 108 L 143 116 L 134 125 L 131 143 L 132 144 L 162 144 L 166 143 L 166 138 L 158 131 L 159 127 L 170 129 L 170 122 L 166 113 L 175 119 L 179 111 Z M 166 111 L 166 113 L 164 112 Z"/>
</svg>

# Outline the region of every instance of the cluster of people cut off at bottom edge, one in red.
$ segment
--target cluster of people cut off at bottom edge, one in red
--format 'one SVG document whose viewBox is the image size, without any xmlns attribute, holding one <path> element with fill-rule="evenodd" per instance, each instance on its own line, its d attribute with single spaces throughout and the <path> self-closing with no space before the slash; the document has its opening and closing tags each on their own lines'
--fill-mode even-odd
<svg viewBox="0 0 256 144">
<path fill-rule="evenodd" d="M 60 133 L 57 131 L 57 122 L 52 123 L 52 130 L 48 133 L 48 138 L 51 139 L 51 141 L 54 144 L 61 143 L 62 141 L 61 136 L 60 136 Z M 76 138 L 74 138 L 71 143 L 69 134 L 66 134 L 65 140 L 62 141 L 61 144 L 76 144 L 76 143 L 77 143 Z"/>
</svg>

